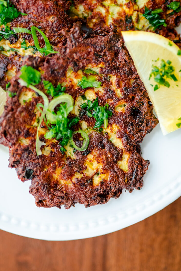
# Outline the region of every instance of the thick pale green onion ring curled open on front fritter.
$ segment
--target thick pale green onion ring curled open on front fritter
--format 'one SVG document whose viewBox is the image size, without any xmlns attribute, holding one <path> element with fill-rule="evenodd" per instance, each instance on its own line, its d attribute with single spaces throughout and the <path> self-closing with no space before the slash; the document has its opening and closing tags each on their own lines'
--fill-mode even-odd
<svg viewBox="0 0 181 271">
<path fill-rule="evenodd" d="M 51 124 L 55 124 L 56 123 L 56 115 L 55 114 L 52 114 L 52 112 L 54 111 L 55 107 L 58 105 L 58 104 L 61 104 L 61 103 L 66 103 L 66 114 L 68 117 L 68 114 L 70 113 L 70 111 L 72 111 L 73 109 L 73 105 L 74 105 L 74 99 L 72 98 L 71 95 L 65 93 L 65 94 L 62 94 L 56 98 L 54 98 L 49 106 L 48 106 L 48 111 L 46 112 L 46 118 L 47 120 L 50 121 Z"/>
</svg>

